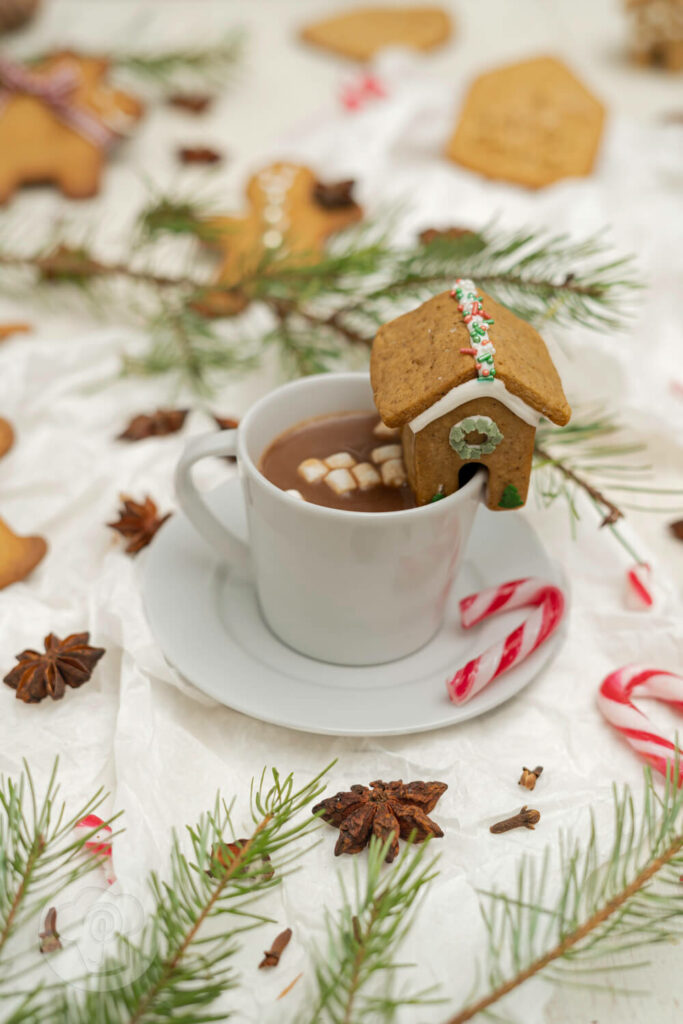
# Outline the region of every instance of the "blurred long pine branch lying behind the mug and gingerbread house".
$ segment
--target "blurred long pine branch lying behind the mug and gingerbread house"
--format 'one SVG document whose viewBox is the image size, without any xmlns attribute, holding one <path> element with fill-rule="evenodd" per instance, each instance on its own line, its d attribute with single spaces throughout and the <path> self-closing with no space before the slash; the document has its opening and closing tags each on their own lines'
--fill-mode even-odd
<svg viewBox="0 0 683 1024">
<path fill-rule="evenodd" d="M 174 304 L 183 329 L 177 344 L 169 345 L 168 324 L 158 313 L 146 325 L 152 334 L 151 358 L 129 365 L 143 372 L 176 371 L 194 386 L 210 387 L 216 375 L 238 369 L 234 346 L 242 347 L 245 329 L 241 318 L 226 325 L 224 348 L 207 344 L 212 328 L 198 310 L 203 295 L 239 295 L 247 304 L 269 311 L 270 329 L 250 341 L 250 358 L 258 349 L 276 344 L 291 373 L 317 372 L 335 366 L 357 349 L 365 353 L 378 326 L 411 308 L 453 282 L 471 275 L 492 295 L 531 319 L 554 318 L 605 329 L 628 312 L 636 286 L 628 259 L 607 255 L 595 240 L 575 243 L 564 237 L 542 233 L 504 234 L 487 228 L 457 238 L 437 238 L 397 248 L 388 228 L 373 224 L 347 232 L 328 252 L 294 257 L 285 250 L 264 253 L 257 265 L 229 285 L 206 274 L 161 272 L 154 242 L 161 234 L 189 236 L 212 241 L 212 221 L 205 207 L 188 200 L 158 197 L 140 217 L 136 239 L 143 245 L 134 259 L 106 262 L 84 246 L 57 240 L 36 252 L 16 252 L 0 246 L 0 266 L 6 270 L 37 273 L 32 284 L 77 286 L 81 292 L 97 290 L 104 303 L 105 285 L 124 282 L 146 289 L 161 308 Z M 16 281 L 3 274 L 6 287 Z M 160 298 L 161 297 L 161 298 Z M 120 311 L 120 290 L 114 296 Z M 181 311 L 193 315 L 181 315 Z M 158 332 L 164 335 L 159 357 Z"/>
</svg>

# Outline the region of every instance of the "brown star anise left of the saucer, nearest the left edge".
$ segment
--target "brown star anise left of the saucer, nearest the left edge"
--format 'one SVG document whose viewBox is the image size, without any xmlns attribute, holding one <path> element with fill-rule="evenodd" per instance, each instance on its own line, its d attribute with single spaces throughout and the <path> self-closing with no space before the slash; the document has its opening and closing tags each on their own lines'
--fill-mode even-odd
<svg viewBox="0 0 683 1024">
<path fill-rule="evenodd" d="M 45 653 L 30 648 L 22 651 L 16 655 L 18 665 L 3 682 L 25 703 L 39 703 L 47 696 L 60 700 L 68 686 L 76 689 L 87 683 L 104 653 L 103 647 L 90 647 L 89 639 L 89 633 L 73 633 L 65 640 L 50 633 L 45 637 Z"/>
</svg>

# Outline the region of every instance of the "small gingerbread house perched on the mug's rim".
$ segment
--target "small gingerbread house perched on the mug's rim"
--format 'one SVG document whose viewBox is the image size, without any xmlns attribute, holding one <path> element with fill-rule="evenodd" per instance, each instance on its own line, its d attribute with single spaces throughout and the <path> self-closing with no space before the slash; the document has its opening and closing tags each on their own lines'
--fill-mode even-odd
<svg viewBox="0 0 683 1024">
<path fill-rule="evenodd" d="M 488 508 L 523 505 L 541 417 L 563 426 L 571 415 L 541 335 L 467 280 L 380 328 L 371 378 L 421 505 L 477 466 Z"/>
</svg>

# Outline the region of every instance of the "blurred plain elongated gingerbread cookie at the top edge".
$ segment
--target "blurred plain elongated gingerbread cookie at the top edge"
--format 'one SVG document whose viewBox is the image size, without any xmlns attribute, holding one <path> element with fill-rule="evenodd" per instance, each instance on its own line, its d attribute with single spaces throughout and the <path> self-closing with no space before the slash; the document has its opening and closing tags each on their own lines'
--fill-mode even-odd
<svg viewBox="0 0 683 1024">
<path fill-rule="evenodd" d="M 431 50 L 451 35 L 451 19 L 440 7 L 356 7 L 314 22 L 301 38 L 353 60 L 370 60 L 384 46 Z"/>
</svg>

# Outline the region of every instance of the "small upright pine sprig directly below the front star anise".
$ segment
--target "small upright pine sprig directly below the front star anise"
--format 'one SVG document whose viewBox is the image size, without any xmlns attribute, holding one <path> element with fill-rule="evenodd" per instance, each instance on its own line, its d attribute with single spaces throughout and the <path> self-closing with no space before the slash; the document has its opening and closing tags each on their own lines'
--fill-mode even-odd
<svg viewBox="0 0 683 1024">
<path fill-rule="evenodd" d="M 389 841 L 390 842 L 390 841 Z M 317 953 L 317 997 L 310 1024 L 361 1024 L 393 1019 L 401 1006 L 422 1005 L 426 991 L 394 995 L 395 956 L 410 930 L 416 905 L 435 878 L 435 859 L 425 863 L 428 844 L 407 846 L 389 872 L 388 843 L 371 840 L 366 879 L 354 864 L 354 894 L 342 885 L 342 907 L 327 915 L 328 949 Z M 385 983 L 385 992 L 378 988 Z"/>
</svg>

